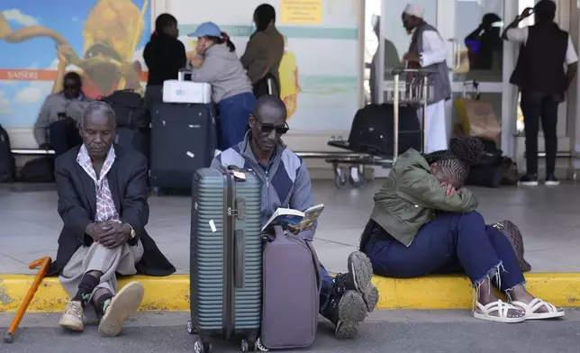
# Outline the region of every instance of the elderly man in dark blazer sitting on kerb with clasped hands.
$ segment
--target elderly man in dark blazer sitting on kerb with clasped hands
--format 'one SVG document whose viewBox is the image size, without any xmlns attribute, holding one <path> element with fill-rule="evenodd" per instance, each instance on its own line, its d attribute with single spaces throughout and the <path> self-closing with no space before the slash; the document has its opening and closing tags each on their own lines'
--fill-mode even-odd
<svg viewBox="0 0 580 353">
<path fill-rule="evenodd" d="M 72 297 L 59 325 L 84 330 L 84 309 L 92 303 L 102 315 L 99 332 L 105 336 L 117 335 L 143 298 L 137 282 L 117 293 L 115 274 L 168 276 L 176 270 L 145 231 L 147 159 L 113 146 L 114 133 L 113 108 L 104 102 L 88 104 L 80 126 L 83 144 L 56 159 L 64 227 L 49 270 Z"/>
</svg>

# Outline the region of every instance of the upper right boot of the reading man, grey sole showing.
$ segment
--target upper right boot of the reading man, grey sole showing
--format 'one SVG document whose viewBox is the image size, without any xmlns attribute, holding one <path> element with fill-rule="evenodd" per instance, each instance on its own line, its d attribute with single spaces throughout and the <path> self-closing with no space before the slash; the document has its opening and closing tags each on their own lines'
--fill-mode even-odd
<svg viewBox="0 0 580 353">
<path fill-rule="evenodd" d="M 357 291 L 367 305 L 367 312 L 375 310 L 378 302 L 378 291 L 372 284 L 373 266 L 367 255 L 355 251 L 349 255 L 349 272 L 338 274 L 334 279 L 335 291 L 344 294 L 347 291 Z"/>
</svg>

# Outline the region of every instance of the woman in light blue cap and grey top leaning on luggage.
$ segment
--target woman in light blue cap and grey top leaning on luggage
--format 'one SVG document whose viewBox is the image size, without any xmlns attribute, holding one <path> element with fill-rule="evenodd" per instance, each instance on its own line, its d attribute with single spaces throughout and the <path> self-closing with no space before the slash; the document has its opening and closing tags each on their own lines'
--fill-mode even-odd
<svg viewBox="0 0 580 353">
<path fill-rule="evenodd" d="M 229 149 L 244 140 L 249 114 L 256 97 L 236 55 L 236 47 L 215 23 L 202 23 L 195 32 L 197 55 L 191 59 L 194 82 L 212 85 L 212 100 L 220 108 L 220 150 Z"/>
</svg>

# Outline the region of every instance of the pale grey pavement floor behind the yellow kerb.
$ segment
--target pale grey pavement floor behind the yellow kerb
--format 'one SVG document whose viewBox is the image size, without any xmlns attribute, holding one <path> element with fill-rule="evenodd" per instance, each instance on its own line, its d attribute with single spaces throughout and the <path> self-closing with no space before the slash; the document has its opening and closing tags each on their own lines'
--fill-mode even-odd
<svg viewBox="0 0 580 353">
<path fill-rule="evenodd" d="M 358 245 L 373 207 L 373 195 L 380 186 L 381 182 L 375 181 L 359 190 L 337 190 L 330 181 L 313 182 L 314 201 L 327 207 L 315 247 L 331 271 L 345 269 L 345 260 Z M 474 191 L 486 220 L 510 219 L 520 226 L 532 271 L 580 272 L 580 185 Z M 0 200 L 0 272 L 29 273 L 30 261 L 56 255 L 62 222 L 56 212 L 54 186 L 0 185 Z M 150 208 L 148 231 L 178 271 L 187 272 L 190 197 L 151 197 Z"/>
</svg>

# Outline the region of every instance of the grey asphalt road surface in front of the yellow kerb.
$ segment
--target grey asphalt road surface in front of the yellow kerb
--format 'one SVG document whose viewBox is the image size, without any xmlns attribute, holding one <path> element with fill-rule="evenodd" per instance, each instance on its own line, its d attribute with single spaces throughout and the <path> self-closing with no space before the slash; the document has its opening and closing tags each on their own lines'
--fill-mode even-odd
<svg viewBox="0 0 580 353">
<path fill-rule="evenodd" d="M 14 343 L 0 343 L 4 353 L 177 353 L 193 352 L 195 337 L 186 333 L 185 312 L 140 314 L 132 318 L 122 335 L 105 339 L 95 326 L 82 334 L 55 327 L 58 314 L 27 315 Z M 0 331 L 12 319 L 0 314 Z M 568 310 L 561 321 L 502 324 L 477 321 L 466 311 L 374 312 L 353 340 L 336 340 L 331 325 L 321 321 L 312 348 L 316 353 L 396 352 L 396 353 L 577 353 L 580 339 L 580 312 Z M 216 343 L 214 352 L 240 352 L 237 343 Z"/>
</svg>

